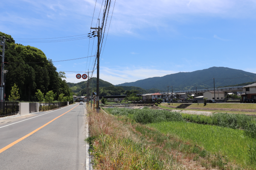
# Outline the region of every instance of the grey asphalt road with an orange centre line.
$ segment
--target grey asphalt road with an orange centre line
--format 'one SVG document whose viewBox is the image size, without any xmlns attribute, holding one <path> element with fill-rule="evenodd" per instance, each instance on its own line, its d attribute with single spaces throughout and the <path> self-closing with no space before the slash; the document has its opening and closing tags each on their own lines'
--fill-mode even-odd
<svg viewBox="0 0 256 170">
<path fill-rule="evenodd" d="M 84 105 L 8 121 L 0 123 L 0 170 L 86 169 Z"/>
</svg>

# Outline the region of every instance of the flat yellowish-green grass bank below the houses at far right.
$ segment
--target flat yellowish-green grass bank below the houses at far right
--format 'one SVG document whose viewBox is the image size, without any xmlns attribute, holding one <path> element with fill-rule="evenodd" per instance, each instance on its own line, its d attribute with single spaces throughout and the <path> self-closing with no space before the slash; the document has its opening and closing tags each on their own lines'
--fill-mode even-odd
<svg viewBox="0 0 256 170">
<path fill-rule="evenodd" d="M 187 108 L 229 108 L 229 109 L 256 109 L 254 103 L 194 103 Z"/>
</svg>

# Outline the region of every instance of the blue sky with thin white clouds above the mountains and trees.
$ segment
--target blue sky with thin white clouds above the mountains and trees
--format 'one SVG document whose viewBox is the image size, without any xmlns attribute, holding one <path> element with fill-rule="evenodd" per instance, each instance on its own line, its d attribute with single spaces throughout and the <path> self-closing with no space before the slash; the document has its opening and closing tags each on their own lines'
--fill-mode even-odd
<svg viewBox="0 0 256 170">
<path fill-rule="evenodd" d="M 102 20 L 101 4 L 102 0 L 4 1 L 0 31 L 16 42 L 87 34 L 98 16 Z M 108 24 L 113 5 L 112 0 Z M 255 13 L 256 0 L 116 0 L 103 42 L 100 78 L 116 85 L 213 66 L 256 73 Z M 107 31 L 108 25 L 105 36 Z M 88 39 L 19 43 L 41 49 L 53 61 L 87 57 L 96 50 Z M 54 64 L 58 71 L 87 71 L 93 60 Z M 75 76 L 66 72 L 67 82 L 83 81 Z"/>
</svg>

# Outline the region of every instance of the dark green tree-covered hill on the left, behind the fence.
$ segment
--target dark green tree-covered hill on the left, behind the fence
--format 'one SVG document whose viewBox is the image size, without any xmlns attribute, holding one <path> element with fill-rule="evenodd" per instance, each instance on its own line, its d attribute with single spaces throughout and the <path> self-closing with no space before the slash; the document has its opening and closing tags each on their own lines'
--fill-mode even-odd
<svg viewBox="0 0 256 170">
<path fill-rule="evenodd" d="M 10 35 L 0 32 L 0 36 L 5 36 L 12 40 L 6 42 L 4 69 L 6 74 L 6 100 L 14 84 L 19 88 L 19 100 L 36 100 L 37 89 L 44 94 L 53 91 L 58 95 L 70 96 L 71 91 L 65 80 L 62 80 L 63 73 L 59 74 L 51 59 L 47 59 L 44 52 L 32 46 L 15 44 Z M 2 55 L 2 50 L 0 50 Z M 39 62 L 39 63 L 38 63 Z"/>
</svg>

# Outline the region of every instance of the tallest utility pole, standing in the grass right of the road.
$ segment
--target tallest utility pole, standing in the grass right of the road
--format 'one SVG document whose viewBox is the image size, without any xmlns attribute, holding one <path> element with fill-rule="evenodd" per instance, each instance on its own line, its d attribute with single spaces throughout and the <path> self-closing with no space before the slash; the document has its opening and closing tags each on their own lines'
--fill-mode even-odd
<svg viewBox="0 0 256 170">
<path fill-rule="evenodd" d="M 99 39 L 100 39 L 100 30 L 102 30 L 102 28 L 98 27 L 98 28 L 91 28 L 91 29 L 95 29 L 97 31 L 97 34 L 98 34 L 96 112 L 99 113 L 99 43 L 100 43 Z"/>
</svg>

